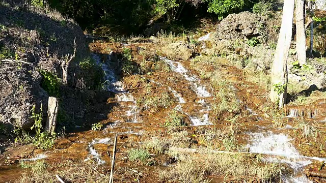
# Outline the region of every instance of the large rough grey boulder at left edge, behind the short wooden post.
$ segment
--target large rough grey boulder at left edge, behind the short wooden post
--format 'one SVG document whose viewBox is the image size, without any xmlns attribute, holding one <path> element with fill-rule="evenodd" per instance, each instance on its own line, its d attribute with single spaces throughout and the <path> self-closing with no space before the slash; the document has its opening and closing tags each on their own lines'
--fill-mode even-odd
<svg viewBox="0 0 326 183">
<path fill-rule="evenodd" d="M 34 124 L 31 118 L 34 105 L 35 112 L 39 113 L 42 104 L 46 114 L 48 95 L 40 86 L 42 76 L 37 71 L 17 69 L 11 64 L 1 65 L 0 76 L 0 121 L 29 129 Z"/>
</svg>

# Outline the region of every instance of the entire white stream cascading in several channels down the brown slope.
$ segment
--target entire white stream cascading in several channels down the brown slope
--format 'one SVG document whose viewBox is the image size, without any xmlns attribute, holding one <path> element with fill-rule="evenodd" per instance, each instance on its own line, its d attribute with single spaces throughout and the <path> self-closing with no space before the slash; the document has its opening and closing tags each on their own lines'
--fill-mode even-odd
<svg viewBox="0 0 326 183">
<path fill-rule="evenodd" d="M 131 94 L 125 92 L 123 83 L 115 77 L 113 69 L 111 69 L 108 64 L 101 63 L 100 57 L 96 54 L 93 54 L 93 58 L 105 72 L 106 89 L 116 93 L 116 100 L 121 103 L 123 108 L 126 108 L 126 112 L 124 114 L 126 119 L 124 121 L 126 123 L 139 123 L 140 112 L 134 97 Z M 178 92 L 177 86 L 173 87 L 153 80 L 151 80 L 151 82 L 159 86 L 166 86 L 171 91 L 171 93 L 177 99 L 177 106 L 174 108 L 174 110 L 178 110 L 186 114 L 193 126 L 212 125 L 209 121 L 209 114 L 207 112 L 211 110 L 210 104 L 207 102 L 207 99 L 211 97 L 211 94 L 208 92 L 207 87 L 201 84 L 200 78 L 198 78 L 196 75 L 191 74 L 191 72 L 184 68 L 180 62 L 175 62 L 166 57 L 160 57 L 160 59 L 164 60 L 164 62 L 169 65 L 174 73 L 183 76 L 183 81 L 188 83 L 195 92 L 197 102 L 187 101 L 181 95 L 181 93 Z M 193 105 L 196 107 L 196 109 L 200 109 L 189 113 L 188 110 L 186 110 L 189 105 Z M 246 106 L 246 108 L 251 114 L 257 115 L 257 113 L 250 109 L 248 106 Z M 293 109 L 290 111 L 290 115 L 287 117 L 295 117 L 297 116 L 297 113 L 298 112 Z M 124 133 L 134 133 L 141 135 L 141 133 L 135 133 L 131 129 L 128 129 L 128 131 Z M 250 149 L 250 153 L 266 155 L 266 158 L 264 158 L 263 161 L 287 164 L 293 169 L 292 174 L 282 175 L 282 180 L 284 182 L 311 182 L 302 172 L 302 168 L 306 165 L 311 164 L 311 160 L 314 158 L 301 156 L 295 147 L 291 144 L 292 139 L 289 139 L 287 135 L 275 134 L 273 132 L 248 133 L 248 135 L 251 137 L 251 140 L 247 145 L 247 148 Z M 100 156 L 94 149 L 94 144 L 97 143 L 107 144 L 112 143 L 112 141 L 110 138 L 94 139 L 88 144 L 87 148 L 89 150 L 89 156 L 85 161 L 95 159 L 96 162 L 100 165 L 105 163 L 105 161 L 100 159 Z"/>
</svg>

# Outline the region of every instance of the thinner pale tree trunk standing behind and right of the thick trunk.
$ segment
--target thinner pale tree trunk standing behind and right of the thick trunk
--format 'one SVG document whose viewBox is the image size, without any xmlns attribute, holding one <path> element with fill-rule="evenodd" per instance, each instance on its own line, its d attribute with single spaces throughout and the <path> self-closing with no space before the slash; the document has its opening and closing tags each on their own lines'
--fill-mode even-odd
<svg viewBox="0 0 326 183">
<path fill-rule="evenodd" d="M 300 66 L 307 64 L 304 2 L 305 0 L 296 0 L 295 4 L 296 55 Z"/>
</svg>

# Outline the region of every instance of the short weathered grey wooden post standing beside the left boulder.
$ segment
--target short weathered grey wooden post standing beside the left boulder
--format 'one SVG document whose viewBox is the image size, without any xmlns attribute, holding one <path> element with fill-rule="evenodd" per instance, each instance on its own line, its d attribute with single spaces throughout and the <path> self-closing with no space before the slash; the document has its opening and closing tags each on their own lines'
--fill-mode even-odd
<svg viewBox="0 0 326 183">
<path fill-rule="evenodd" d="M 51 134 L 55 133 L 56 131 L 58 109 L 59 109 L 58 98 L 49 97 L 45 130 L 50 132 Z"/>
</svg>

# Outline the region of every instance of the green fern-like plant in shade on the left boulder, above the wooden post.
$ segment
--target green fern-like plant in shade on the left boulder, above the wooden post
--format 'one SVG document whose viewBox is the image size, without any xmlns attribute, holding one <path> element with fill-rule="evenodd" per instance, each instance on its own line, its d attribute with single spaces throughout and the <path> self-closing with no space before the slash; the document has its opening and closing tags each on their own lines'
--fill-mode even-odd
<svg viewBox="0 0 326 183">
<path fill-rule="evenodd" d="M 49 96 L 59 97 L 61 79 L 46 70 L 39 69 L 38 71 L 43 76 L 41 87 L 48 93 Z"/>
</svg>

